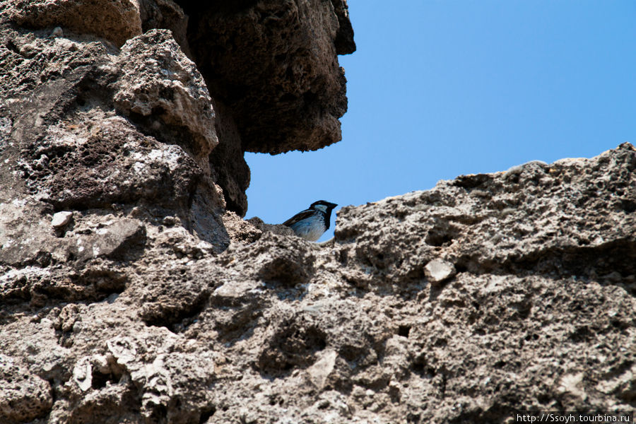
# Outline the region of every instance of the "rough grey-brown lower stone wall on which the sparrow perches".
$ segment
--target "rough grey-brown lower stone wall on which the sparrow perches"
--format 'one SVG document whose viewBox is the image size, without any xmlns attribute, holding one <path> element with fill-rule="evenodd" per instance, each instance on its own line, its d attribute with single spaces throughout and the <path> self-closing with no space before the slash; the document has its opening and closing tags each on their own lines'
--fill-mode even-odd
<svg viewBox="0 0 636 424">
<path fill-rule="evenodd" d="M 231 212 L 221 254 L 172 216 L 76 213 L 24 261 L 5 238 L 0 343 L 33 389 L 12 391 L 1 413 L 40 423 L 493 423 L 518 409 L 630 410 L 635 171 L 626 143 L 593 159 L 462 176 L 343 208 L 321 245 Z M 46 212 L 13 210 L 1 216 L 50 225 Z M 125 230 L 104 237 L 110 247 L 78 252 L 94 252 L 113 225 Z M 66 239 L 75 247 L 65 258 Z M 432 284 L 433 261 L 457 275 Z"/>
</svg>

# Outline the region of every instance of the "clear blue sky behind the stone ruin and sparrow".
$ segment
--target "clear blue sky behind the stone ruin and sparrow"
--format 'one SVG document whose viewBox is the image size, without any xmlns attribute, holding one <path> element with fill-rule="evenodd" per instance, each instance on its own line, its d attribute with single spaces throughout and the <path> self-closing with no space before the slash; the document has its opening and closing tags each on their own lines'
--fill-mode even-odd
<svg viewBox="0 0 636 424">
<path fill-rule="evenodd" d="M 247 218 L 636 144 L 636 1 L 349 0 L 343 139 L 246 153 Z M 336 211 L 338 211 L 336 208 Z M 333 237 L 331 228 L 320 241 Z"/>
</svg>

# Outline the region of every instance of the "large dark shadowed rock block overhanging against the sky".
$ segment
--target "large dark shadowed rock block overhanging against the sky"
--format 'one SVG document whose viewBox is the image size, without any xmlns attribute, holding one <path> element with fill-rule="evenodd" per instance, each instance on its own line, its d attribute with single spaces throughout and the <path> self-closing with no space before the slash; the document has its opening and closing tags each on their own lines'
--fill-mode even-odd
<svg viewBox="0 0 636 424">
<path fill-rule="evenodd" d="M 355 50 L 346 1 L 178 1 L 213 97 L 232 110 L 244 151 L 316 150 L 341 139 Z"/>
</svg>

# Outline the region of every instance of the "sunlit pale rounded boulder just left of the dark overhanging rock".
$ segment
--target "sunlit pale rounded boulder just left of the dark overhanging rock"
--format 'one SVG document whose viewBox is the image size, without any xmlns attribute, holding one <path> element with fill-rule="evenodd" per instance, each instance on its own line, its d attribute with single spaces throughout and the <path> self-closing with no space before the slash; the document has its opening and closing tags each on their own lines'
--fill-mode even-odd
<svg viewBox="0 0 636 424">
<path fill-rule="evenodd" d="M 119 61 L 122 74 L 113 97 L 117 110 L 133 115 L 158 138 L 174 132 L 172 138 L 178 139 L 179 131 L 186 129 L 194 143 L 182 147 L 192 149 L 197 165 L 209 174 L 208 156 L 218 144 L 211 98 L 170 32 L 150 30 L 129 40 Z"/>
</svg>

